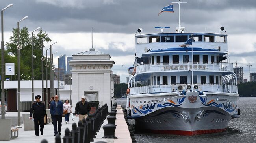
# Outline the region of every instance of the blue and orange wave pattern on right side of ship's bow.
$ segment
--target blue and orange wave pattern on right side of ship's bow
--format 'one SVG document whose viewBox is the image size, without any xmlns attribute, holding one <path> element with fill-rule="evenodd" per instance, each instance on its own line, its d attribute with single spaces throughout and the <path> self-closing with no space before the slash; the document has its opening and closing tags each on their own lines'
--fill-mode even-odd
<svg viewBox="0 0 256 143">
<path fill-rule="evenodd" d="M 200 100 L 201 100 L 201 102 L 202 102 L 202 104 L 204 105 L 204 106 L 215 106 L 215 107 L 223 107 L 223 109 L 226 111 L 226 112 L 230 112 L 230 113 L 232 113 L 232 112 L 234 112 L 234 110 L 236 110 L 236 108 L 237 108 L 237 105 L 236 105 L 236 107 L 234 107 L 233 108 L 233 106 L 232 106 L 232 104 L 230 105 L 230 102 L 228 102 L 228 105 L 227 105 L 227 103 L 226 104 L 224 104 L 224 103 L 216 103 L 216 102 L 211 102 L 211 103 L 209 103 L 209 104 L 207 104 L 206 103 L 206 98 L 202 98 L 201 96 L 199 96 L 200 97 Z M 235 113 L 236 113 L 237 111 L 235 111 Z"/>
</svg>

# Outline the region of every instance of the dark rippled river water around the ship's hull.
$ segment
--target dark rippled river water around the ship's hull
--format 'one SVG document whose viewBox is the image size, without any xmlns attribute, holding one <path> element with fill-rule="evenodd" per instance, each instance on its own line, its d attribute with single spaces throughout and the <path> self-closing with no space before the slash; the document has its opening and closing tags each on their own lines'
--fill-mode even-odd
<svg viewBox="0 0 256 143">
<path fill-rule="evenodd" d="M 119 104 L 125 104 L 126 99 L 116 100 Z M 232 119 L 228 129 L 215 134 L 202 134 L 196 136 L 180 136 L 167 134 L 150 134 L 136 132 L 137 143 L 256 143 L 256 98 L 239 98 L 241 110 L 240 118 Z M 134 120 L 129 119 L 131 125 Z"/>
</svg>

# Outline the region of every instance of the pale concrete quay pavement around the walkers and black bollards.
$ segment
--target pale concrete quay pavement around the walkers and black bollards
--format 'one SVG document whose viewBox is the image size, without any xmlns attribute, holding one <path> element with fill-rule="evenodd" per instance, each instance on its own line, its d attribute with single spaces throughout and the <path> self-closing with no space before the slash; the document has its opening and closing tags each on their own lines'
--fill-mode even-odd
<svg viewBox="0 0 256 143">
<path fill-rule="evenodd" d="M 115 136 L 117 139 L 102 139 L 104 136 L 103 126 L 108 123 L 107 119 L 105 119 L 104 123 L 102 124 L 99 132 L 97 132 L 96 138 L 94 138 L 94 142 L 97 141 L 105 141 L 107 143 L 132 143 L 132 139 L 128 130 L 128 126 L 124 119 L 124 115 L 121 106 L 117 107 L 117 120 L 115 121 L 116 129 L 115 129 Z M 29 114 L 29 112 L 21 112 L 21 119 L 22 114 Z M 6 118 L 8 117 L 17 117 L 17 112 L 7 112 Z M 72 130 L 72 123 L 78 124 L 78 117 L 75 117 L 75 120 L 72 121 L 71 117 L 69 120 L 69 124 L 65 124 L 65 117 L 62 118 L 62 127 L 61 127 L 61 138 L 64 137 L 65 129 L 68 128 Z M 1 125 L 0 125 L 1 126 Z M 43 139 L 46 139 L 48 143 L 55 143 L 55 136 L 54 136 L 54 128 L 53 124 L 47 124 L 43 130 L 43 136 L 39 134 L 39 136 L 35 136 L 35 131 L 24 131 L 24 124 L 21 124 L 19 129 L 19 136 L 17 138 L 11 139 L 10 141 L 0 141 L 1 143 L 40 143 Z M 61 139 L 63 142 L 63 139 Z"/>
</svg>

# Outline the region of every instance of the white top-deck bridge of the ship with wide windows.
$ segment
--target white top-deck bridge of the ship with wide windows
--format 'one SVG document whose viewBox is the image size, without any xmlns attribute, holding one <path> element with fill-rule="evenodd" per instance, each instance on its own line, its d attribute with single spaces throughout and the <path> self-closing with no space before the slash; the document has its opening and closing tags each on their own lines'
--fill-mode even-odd
<svg viewBox="0 0 256 143">
<path fill-rule="evenodd" d="M 135 57 L 150 50 L 165 50 L 180 47 L 193 35 L 192 45 L 203 50 L 215 49 L 227 53 L 227 35 L 214 33 L 159 33 L 135 36 Z"/>
</svg>

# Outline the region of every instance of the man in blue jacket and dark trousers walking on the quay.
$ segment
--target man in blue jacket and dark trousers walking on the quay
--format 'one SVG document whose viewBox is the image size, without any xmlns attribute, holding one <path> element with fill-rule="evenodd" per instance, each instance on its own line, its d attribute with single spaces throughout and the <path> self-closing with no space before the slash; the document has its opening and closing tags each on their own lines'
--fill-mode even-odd
<svg viewBox="0 0 256 143">
<path fill-rule="evenodd" d="M 54 136 L 56 136 L 59 132 L 61 135 L 61 122 L 62 122 L 62 114 L 63 114 L 63 103 L 59 101 L 59 96 L 55 95 L 54 100 L 50 105 L 50 112 L 53 119 L 53 127 L 54 127 Z M 57 122 L 58 122 L 58 132 L 57 132 Z"/>
</svg>

